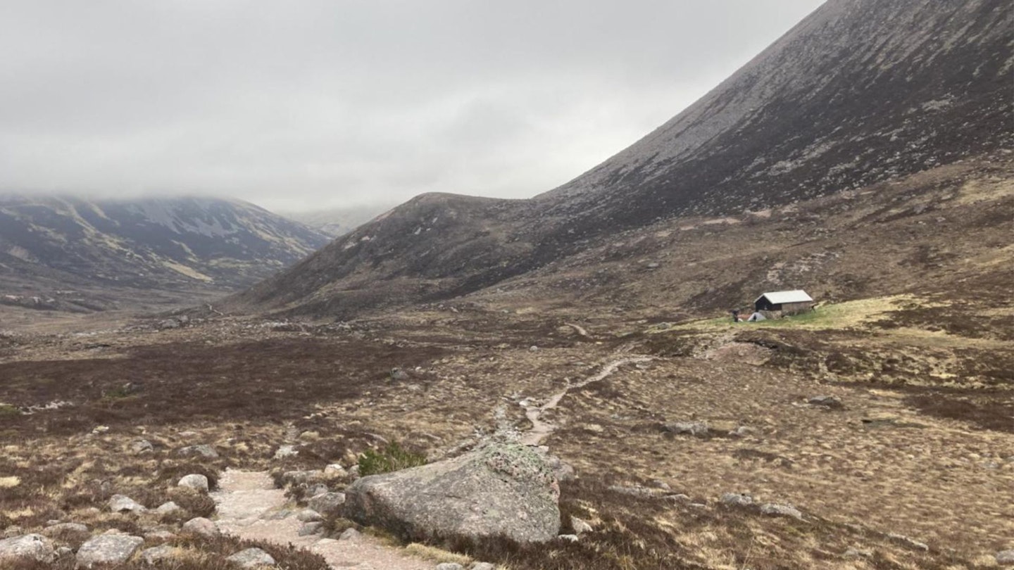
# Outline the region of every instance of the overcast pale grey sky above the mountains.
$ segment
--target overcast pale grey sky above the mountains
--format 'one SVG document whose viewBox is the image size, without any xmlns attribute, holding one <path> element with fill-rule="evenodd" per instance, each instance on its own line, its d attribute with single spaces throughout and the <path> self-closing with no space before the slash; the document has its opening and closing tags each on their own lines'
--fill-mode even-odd
<svg viewBox="0 0 1014 570">
<path fill-rule="evenodd" d="M 0 192 L 528 198 L 820 0 L 0 0 Z"/>
</svg>

